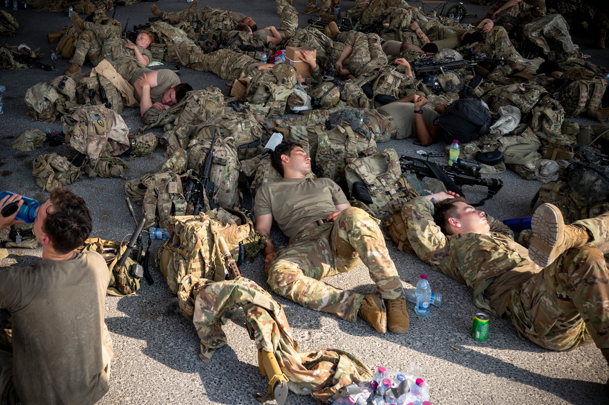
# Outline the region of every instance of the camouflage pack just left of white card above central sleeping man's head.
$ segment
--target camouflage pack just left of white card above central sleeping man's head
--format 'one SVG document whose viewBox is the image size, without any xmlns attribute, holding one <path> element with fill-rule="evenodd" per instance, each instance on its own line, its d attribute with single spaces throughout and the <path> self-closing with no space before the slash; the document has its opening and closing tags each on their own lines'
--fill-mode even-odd
<svg viewBox="0 0 609 405">
<path fill-rule="evenodd" d="M 249 112 L 234 112 L 213 117 L 197 127 L 195 138 L 212 139 L 216 129 L 218 138 L 233 137 L 240 161 L 258 154 L 262 128 L 258 120 Z"/>
</svg>

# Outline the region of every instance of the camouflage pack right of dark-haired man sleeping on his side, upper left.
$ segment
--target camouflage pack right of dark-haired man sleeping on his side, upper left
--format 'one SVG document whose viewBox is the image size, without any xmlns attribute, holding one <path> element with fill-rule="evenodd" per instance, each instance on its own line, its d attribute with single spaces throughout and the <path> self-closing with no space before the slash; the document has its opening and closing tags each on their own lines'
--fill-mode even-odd
<svg viewBox="0 0 609 405">
<path fill-rule="evenodd" d="M 223 112 L 224 95 L 219 88 L 210 86 L 206 89 L 190 91 L 186 94 L 184 108 L 175 117 L 174 125 L 198 125 Z"/>
</svg>

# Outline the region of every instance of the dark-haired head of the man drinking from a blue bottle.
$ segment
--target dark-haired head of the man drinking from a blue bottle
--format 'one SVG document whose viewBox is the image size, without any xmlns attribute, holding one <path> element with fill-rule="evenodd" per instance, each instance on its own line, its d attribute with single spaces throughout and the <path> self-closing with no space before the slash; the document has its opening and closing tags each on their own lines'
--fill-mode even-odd
<svg viewBox="0 0 609 405">
<path fill-rule="evenodd" d="M 93 221 L 85 200 L 64 189 L 55 189 L 38 208 L 33 232 L 45 253 L 66 255 L 81 246 L 91 234 Z"/>
</svg>

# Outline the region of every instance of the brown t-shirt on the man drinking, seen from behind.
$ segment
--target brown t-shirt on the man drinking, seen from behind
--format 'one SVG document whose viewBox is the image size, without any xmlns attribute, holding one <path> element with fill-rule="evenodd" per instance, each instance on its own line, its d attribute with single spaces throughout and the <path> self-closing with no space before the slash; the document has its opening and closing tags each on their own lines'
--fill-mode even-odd
<svg viewBox="0 0 609 405">
<path fill-rule="evenodd" d="M 94 404 L 108 392 L 102 360 L 110 273 L 96 252 L 0 271 L 12 315 L 13 383 L 23 404 Z"/>
</svg>

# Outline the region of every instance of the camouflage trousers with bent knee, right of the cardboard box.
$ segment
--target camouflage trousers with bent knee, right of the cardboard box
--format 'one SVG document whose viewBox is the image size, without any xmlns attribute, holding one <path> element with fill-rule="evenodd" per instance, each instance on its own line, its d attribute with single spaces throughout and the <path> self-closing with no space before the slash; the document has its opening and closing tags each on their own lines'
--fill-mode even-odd
<svg viewBox="0 0 609 405">
<path fill-rule="evenodd" d="M 339 33 L 337 39 L 350 46 L 350 71 L 355 76 L 361 76 L 375 71 L 387 64 L 387 55 L 382 51 L 381 37 L 375 33 L 366 35 L 363 32 L 348 31 Z"/>
</svg>

